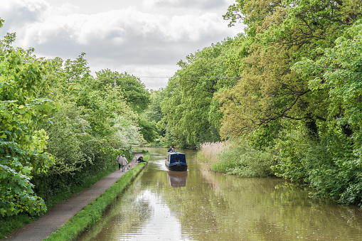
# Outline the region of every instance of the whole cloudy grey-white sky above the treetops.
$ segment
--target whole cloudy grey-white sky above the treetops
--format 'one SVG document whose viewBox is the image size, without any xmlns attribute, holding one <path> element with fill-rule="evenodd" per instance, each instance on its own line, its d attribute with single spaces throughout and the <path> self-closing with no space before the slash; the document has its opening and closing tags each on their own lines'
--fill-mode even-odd
<svg viewBox="0 0 362 241">
<path fill-rule="evenodd" d="M 166 87 L 179 60 L 235 37 L 223 14 L 235 0 L 1 0 L 0 38 L 38 57 L 63 60 L 85 53 L 95 72 L 139 77 L 147 89 Z"/>
</svg>

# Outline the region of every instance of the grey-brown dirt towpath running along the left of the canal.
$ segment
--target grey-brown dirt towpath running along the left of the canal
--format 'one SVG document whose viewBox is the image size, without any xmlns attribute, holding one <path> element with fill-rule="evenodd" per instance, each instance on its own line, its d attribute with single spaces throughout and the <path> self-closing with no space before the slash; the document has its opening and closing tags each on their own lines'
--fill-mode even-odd
<svg viewBox="0 0 362 241">
<path fill-rule="evenodd" d="M 136 160 L 139 156 L 142 156 L 142 153 L 134 152 L 134 158 L 130 161 L 132 167 L 137 165 Z M 53 209 L 49 210 L 48 213 L 41 216 L 38 220 L 14 231 L 9 238 L 1 240 L 38 241 L 45 239 L 60 226 L 64 225 L 73 215 L 82 210 L 83 207 L 113 186 L 126 172 L 127 170 L 123 172 L 121 168 L 121 171 L 117 170 L 110 173 L 110 175 L 105 176 L 90 188 L 75 193 L 67 200 L 64 200 L 63 203 L 55 205 Z"/>
</svg>

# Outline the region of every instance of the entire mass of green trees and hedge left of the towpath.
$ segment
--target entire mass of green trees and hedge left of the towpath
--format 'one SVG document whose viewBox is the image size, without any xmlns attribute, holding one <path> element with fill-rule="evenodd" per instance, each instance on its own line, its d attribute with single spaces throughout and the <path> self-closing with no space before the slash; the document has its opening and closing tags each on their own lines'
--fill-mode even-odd
<svg viewBox="0 0 362 241">
<path fill-rule="evenodd" d="M 136 113 L 149 104 L 137 78 L 115 73 L 115 88 L 110 71 L 90 75 L 85 53 L 45 60 L 14 41 L 9 33 L 0 43 L 0 215 L 39 215 L 46 210 L 39 196 L 48 203 L 69 193 L 64 183 L 82 186 L 85 175 L 112 168 L 119 152 L 129 157 L 142 140 L 139 124 L 149 139 L 156 127 Z"/>
</svg>

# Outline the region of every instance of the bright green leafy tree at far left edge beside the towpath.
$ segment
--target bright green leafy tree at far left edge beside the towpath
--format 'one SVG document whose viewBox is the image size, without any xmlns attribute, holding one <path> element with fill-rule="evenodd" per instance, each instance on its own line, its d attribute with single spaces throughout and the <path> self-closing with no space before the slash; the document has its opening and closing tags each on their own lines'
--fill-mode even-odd
<svg viewBox="0 0 362 241">
<path fill-rule="evenodd" d="M 38 215 L 46 205 L 33 191 L 32 173 L 46 172 L 53 159 L 45 152 L 46 132 L 34 126 L 53 112 L 53 102 L 36 96 L 45 63 L 11 47 L 14 40 L 8 34 L 0 42 L 0 215 Z"/>
</svg>

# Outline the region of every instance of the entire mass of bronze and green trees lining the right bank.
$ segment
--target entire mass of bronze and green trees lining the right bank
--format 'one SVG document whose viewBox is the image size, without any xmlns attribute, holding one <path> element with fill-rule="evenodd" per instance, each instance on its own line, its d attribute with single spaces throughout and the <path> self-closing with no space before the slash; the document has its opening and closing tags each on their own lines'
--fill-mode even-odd
<svg viewBox="0 0 362 241">
<path fill-rule="evenodd" d="M 240 80 L 214 95 L 223 114 L 220 136 L 244 138 L 241 156 L 273 153 L 276 162 L 267 165 L 277 176 L 308 183 L 312 196 L 357 205 L 361 16 L 358 0 L 236 1 L 224 18 L 247 25 L 240 54 L 229 59 Z M 245 156 L 233 158 L 240 157 L 235 149 L 225 156 L 218 171 L 252 166 Z"/>
</svg>

